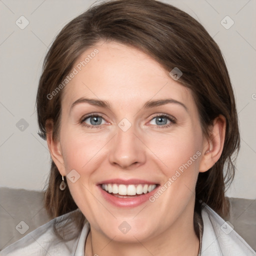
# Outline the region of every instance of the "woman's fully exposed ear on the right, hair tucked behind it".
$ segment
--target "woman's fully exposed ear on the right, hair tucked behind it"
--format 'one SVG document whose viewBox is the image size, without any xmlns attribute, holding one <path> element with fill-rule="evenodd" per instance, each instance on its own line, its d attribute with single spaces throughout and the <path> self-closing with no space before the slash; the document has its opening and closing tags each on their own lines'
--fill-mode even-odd
<svg viewBox="0 0 256 256">
<path fill-rule="evenodd" d="M 219 159 L 224 145 L 226 119 L 220 114 L 213 120 L 208 139 L 204 138 L 199 172 L 207 171 Z"/>
</svg>

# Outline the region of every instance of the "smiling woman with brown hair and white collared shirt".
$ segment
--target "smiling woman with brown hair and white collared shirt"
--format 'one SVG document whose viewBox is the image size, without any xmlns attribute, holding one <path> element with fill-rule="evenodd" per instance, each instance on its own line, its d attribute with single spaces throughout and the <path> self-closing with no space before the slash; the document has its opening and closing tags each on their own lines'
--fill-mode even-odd
<svg viewBox="0 0 256 256">
<path fill-rule="evenodd" d="M 90 8 L 55 38 L 36 100 L 53 219 L 1 255 L 256 255 L 219 216 L 237 112 L 191 16 L 154 0 Z"/>
</svg>

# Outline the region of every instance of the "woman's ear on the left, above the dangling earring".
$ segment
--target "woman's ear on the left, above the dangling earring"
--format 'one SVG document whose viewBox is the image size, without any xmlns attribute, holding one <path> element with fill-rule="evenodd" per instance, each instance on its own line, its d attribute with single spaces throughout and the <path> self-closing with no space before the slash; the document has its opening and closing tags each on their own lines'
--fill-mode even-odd
<svg viewBox="0 0 256 256">
<path fill-rule="evenodd" d="M 47 119 L 45 123 L 46 127 L 46 140 L 48 144 L 48 148 L 50 151 L 50 156 L 54 163 L 56 164 L 59 173 L 62 176 L 65 176 L 65 168 L 64 168 L 64 159 L 62 156 L 62 149 L 60 145 L 60 141 L 52 138 L 52 130 L 53 130 L 53 121 L 51 119 Z"/>
</svg>

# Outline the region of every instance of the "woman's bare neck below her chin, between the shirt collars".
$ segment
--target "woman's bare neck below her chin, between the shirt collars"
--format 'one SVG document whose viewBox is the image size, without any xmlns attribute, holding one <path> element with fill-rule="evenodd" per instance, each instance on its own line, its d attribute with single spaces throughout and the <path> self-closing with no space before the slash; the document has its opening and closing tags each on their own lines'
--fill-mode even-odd
<svg viewBox="0 0 256 256">
<path fill-rule="evenodd" d="M 189 217 L 188 217 L 189 216 Z M 183 212 L 179 218 L 164 232 L 147 240 L 120 242 L 97 232 L 93 227 L 86 239 L 85 256 L 197 256 L 199 239 L 193 226 L 193 214 Z"/>
</svg>

